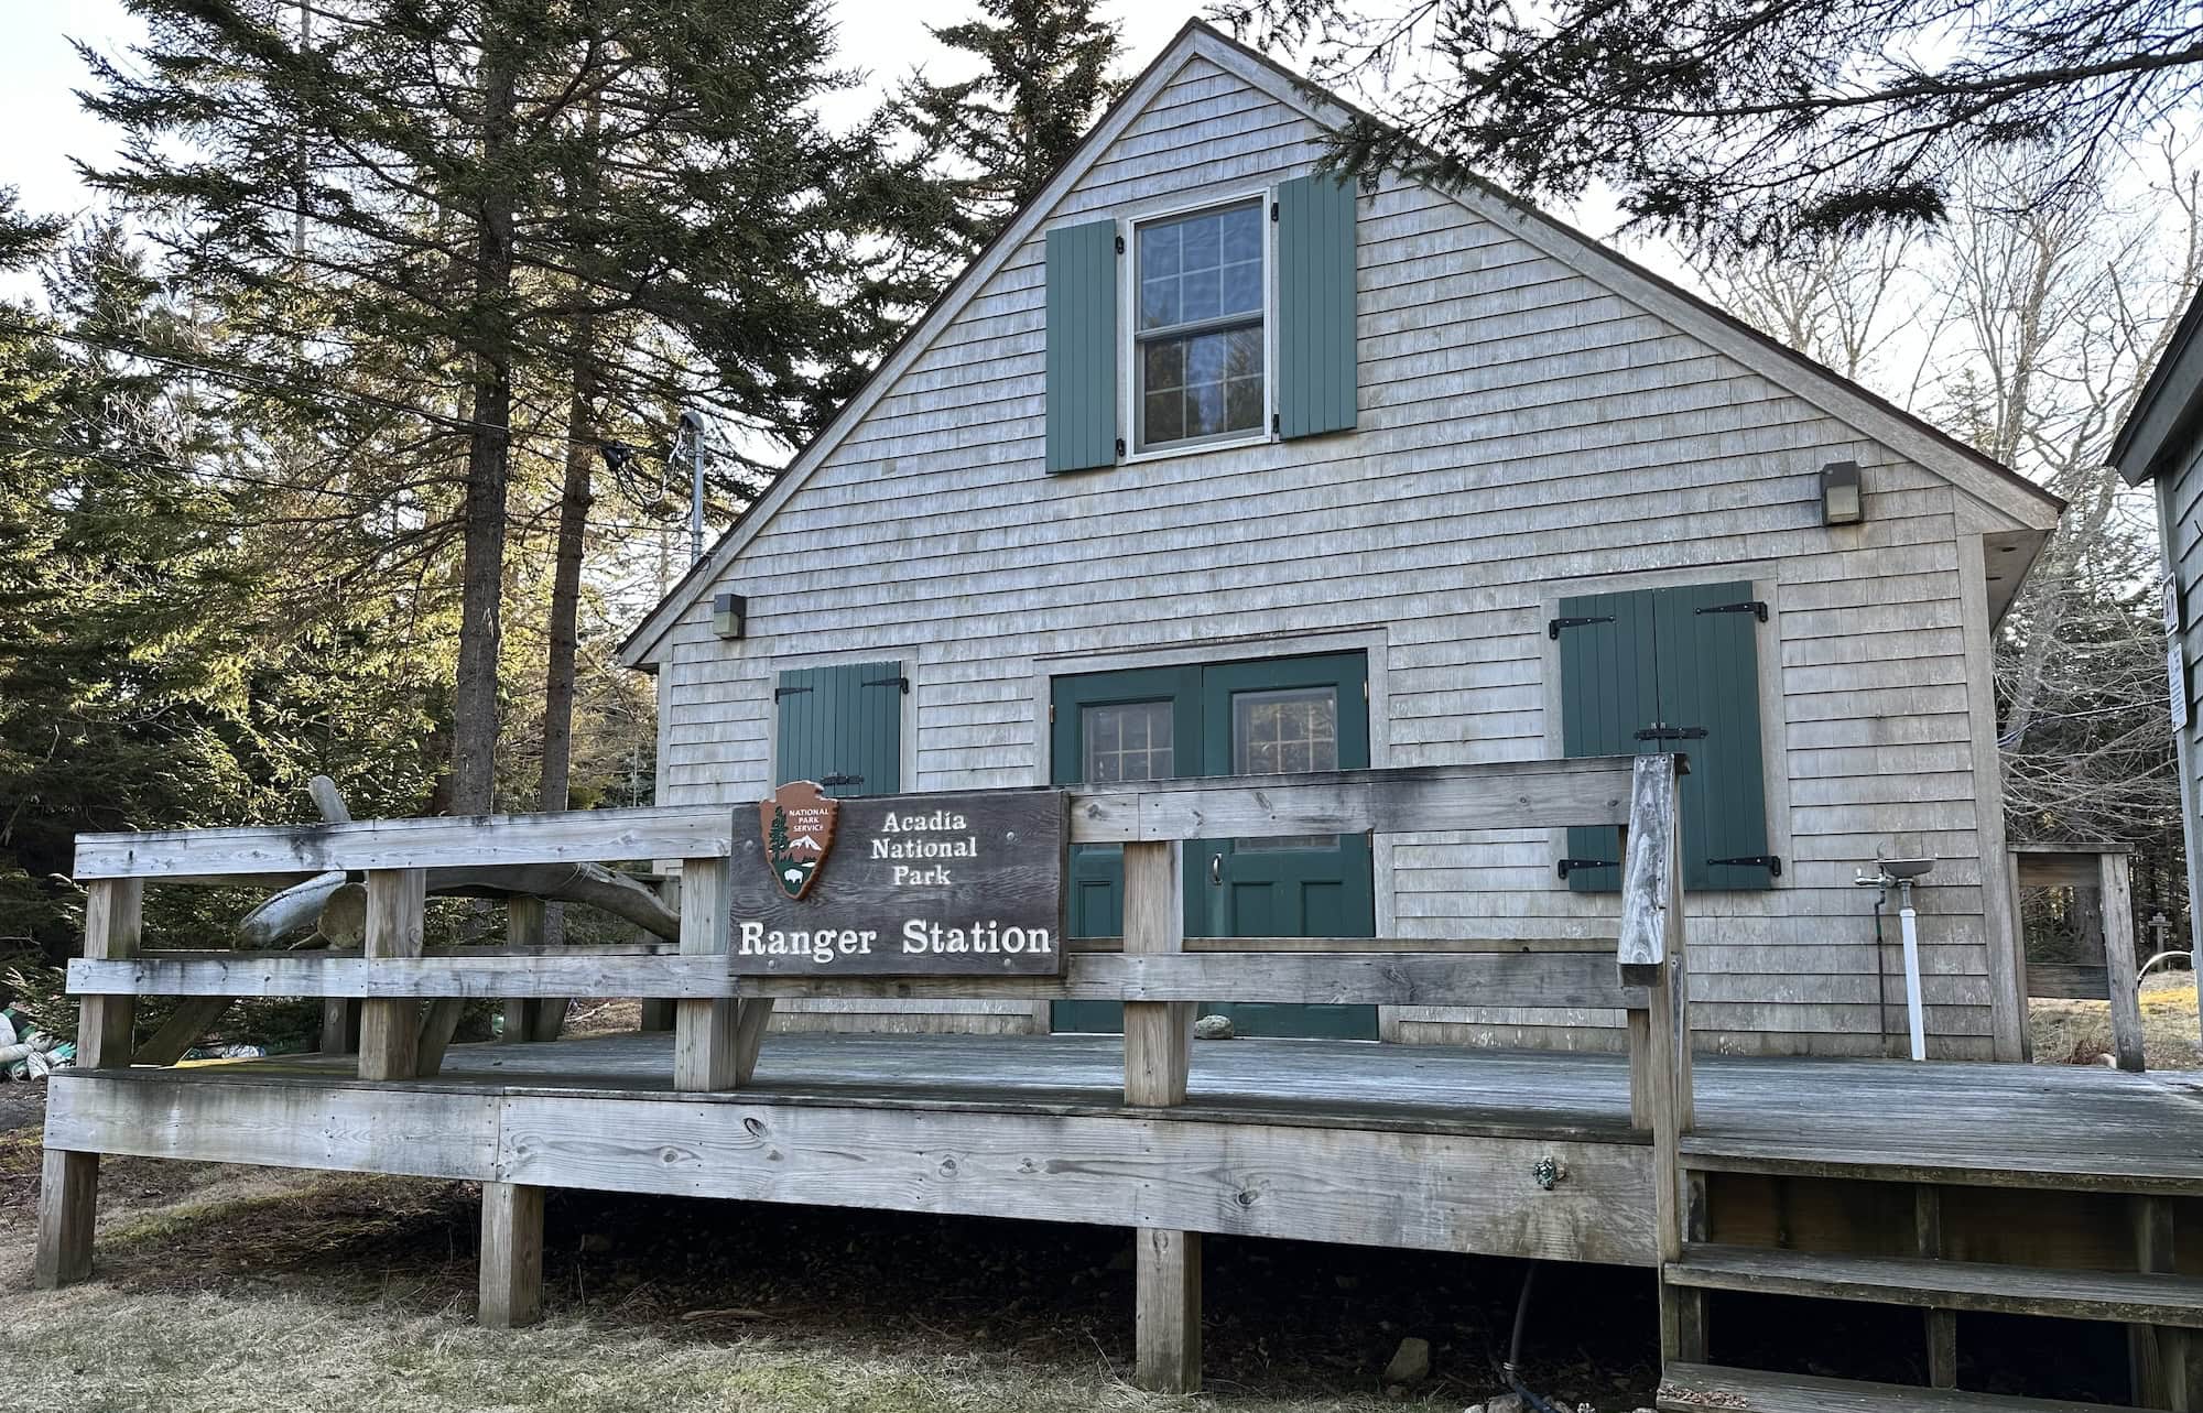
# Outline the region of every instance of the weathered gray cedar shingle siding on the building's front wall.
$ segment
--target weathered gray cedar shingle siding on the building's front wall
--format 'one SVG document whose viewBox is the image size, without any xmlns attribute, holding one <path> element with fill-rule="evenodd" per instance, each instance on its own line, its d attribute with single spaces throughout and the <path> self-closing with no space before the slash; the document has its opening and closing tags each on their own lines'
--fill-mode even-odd
<svg viewBox="0 0 2203 1413">
<path fill-rule="evenodd" d="M 1046 224 L 1238 196 L 1317 156 L 1306 117 L 1196 55 Z M 1928 1028 L 1941 1054 L 1987 1056 L 1976 781 L 1994 762 L 1976 775 L 1989 684 L 1967 680 L 1961 528 L 2016 522 L 1450 196 L 1388 178 L 1357 224 L 1355 431 L 1068 478 L 1042 469 L 1044 240 L 1024 240 L 736 555 L 723 581 L 751 594 L 749 640 L 714 638 L 705 596 L 650 649 L 659 799 L 769 790 L 791 665 L 905 665 L 908 788 L 1029 786 L 1046 779 L 1042 660 L 1337 632 L 1379 643 L 1372 764 L 1560 755 L 1558 592 L 1751 579 L 1776 605 L 1760 651 L 1784 878 L 1694 896 L 1701 1043 L 1881 1052 L 1870 896 L 1851 883 L 1881 847 L 1943 861 L 1919 891 Z M 1817 469 L 1842 458 L 1864 467 L 1868 519 L 1831 533 Z M 1379 931 L 1613 935 L 1613 898 L 1569 894 L 1558 856 L 1547 832 L 1383 841 Z M 1901 988 L 1886 995 L 1901 1032 Z M 1029 1012 L 969 1010 L 989 1028 Z M 1617 1019 L 1399 1008 L 1388 1034 L 1599 1045 Z"/>
</svg>

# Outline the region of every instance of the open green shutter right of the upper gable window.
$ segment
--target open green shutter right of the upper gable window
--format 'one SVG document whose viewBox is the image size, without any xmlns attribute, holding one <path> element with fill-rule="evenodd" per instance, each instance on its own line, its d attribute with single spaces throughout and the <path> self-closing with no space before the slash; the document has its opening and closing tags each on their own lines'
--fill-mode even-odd
<svg viewBox="0 0 2203 1413">
<path fill-rule="evenodd" d="M 1278 185 L 1278 434 L 1355 425 L 1355 187 Z"/>
</svg>

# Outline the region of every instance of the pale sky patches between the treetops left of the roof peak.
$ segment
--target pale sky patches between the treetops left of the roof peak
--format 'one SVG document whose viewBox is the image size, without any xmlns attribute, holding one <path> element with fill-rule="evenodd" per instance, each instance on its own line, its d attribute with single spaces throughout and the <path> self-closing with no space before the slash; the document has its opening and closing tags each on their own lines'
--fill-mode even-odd
<svg viewBox="0 0 2203 1413">
<path fill-rule="evenodd" d="M 842 62 L 868 70 L 881 88 L 916 64 L 936 79 L 952 73 L 927 24 L 972 15 L 967 0 L 835 0 Z M 1201 4 L 1194 0 L 1108 0 L 1102 13 L 1124 22 L 1126 73 L 1137 73 Z M 70 158 L 99 163 L 115 152 L 110 132 L 75 99 L 86 84 L 70 40 L 101 53 L 123 51 L 143 33 L 117 0 L 0 0 L 0 132 L 13 134 L 0 158 L 0 185 L 13 185 L 29 211 L 77 213 L 93 196 Z"/>
</svg>

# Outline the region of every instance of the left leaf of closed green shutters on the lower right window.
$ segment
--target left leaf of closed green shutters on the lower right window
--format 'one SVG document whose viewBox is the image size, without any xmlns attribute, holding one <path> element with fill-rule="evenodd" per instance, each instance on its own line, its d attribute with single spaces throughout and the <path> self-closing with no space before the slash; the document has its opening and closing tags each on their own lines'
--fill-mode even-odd
<svg viewBox="0 0 2203 1413">
<path fill-rule="evenodd" d="M 1560 601 L 1562 755 L 1639 755 L 1637 731 L 1659 715 L 1650 594 L 1584 594 Z M 1621 887 L 1621 832 L 1569 830 L 1569 858 L 1613 867 L 1569 869 L 1571 894 Z"/>
</svg>

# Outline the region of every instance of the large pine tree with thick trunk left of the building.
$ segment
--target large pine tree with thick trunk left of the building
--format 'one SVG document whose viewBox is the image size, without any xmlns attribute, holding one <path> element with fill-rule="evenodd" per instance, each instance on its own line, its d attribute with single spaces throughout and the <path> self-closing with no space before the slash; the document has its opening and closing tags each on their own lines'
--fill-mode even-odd
<svg viewBox="0 0 2203 1413">
<path fill-rule="evenodd" d="M 826 4 L 344 0 L 311 44 L 289 4 L 134 9 L 134 62 L 86 53 L 90 110 L 130 139 L 93 180 L 220 302 L 240 374 L 330 416 L 357 460 L 317 482 L 416 508 L 408 548 L 458 541 L 445 803 L 493 808 L 522 458 L 663 438 L 690 396 L 745 445 L 793 442 L 905 302 L 883 134 L 815 114 L 848 84 Z M 597 392 L 575 420 L 553 407 L 577 357 Z M 764 469 L 738 462 L 734 491 Z"/>
</svg>

